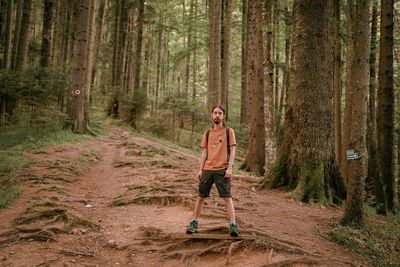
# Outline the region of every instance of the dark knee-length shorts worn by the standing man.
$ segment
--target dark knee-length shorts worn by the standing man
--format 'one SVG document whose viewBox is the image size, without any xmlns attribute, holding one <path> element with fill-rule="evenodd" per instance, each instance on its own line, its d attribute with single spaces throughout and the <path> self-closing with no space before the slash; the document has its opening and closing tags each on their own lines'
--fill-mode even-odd
<svg viewBox="0 0 400 267">
<path fill-rule="evenodd" d="M 224 177 L 225 172 L 225 170 L 203 170 L 199 183 L 199 197 L 209 197 L 214 183 L 220 197 L 232 197 L 231 179 Z"/>
</svg>

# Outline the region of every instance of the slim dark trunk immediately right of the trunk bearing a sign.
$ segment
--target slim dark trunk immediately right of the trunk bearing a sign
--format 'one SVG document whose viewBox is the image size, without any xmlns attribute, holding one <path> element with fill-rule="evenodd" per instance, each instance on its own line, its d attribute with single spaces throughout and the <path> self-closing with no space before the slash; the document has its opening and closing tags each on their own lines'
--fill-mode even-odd
<svg viewBox="0 0 400 267">
<path fill-rule="evenodd" d="M 375 195 L 376 212 L 386 214 L 387 204 L 382 177 L 379 175 L 376 132 L 376 53 L 377 53 L 378 0 L 373 0 L 371 19 L 371 51 L 369 57 L 369 109 L 368 109 L 368 176 L 366 191 Z"/>
</svg>

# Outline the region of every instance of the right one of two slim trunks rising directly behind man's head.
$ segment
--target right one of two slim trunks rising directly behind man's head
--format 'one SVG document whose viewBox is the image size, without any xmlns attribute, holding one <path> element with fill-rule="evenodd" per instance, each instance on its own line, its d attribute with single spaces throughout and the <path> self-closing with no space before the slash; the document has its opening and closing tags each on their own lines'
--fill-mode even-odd
<svg viewBox="0 0 400 267">
<path fill-rule="evenodd" d="M 226 4 L 224 8 L 224 35 L 222 48 L 222 66 L 221 66 L 221 105 L 225 107 L 225 120 L 228 120 L 228 90 L 229 90 L 229 65 L 230 65 L 230 44 L 231 44 L 231 28 L 232 28 L 232 10 L 233 0 L 223 1 Z"/>
</svg>

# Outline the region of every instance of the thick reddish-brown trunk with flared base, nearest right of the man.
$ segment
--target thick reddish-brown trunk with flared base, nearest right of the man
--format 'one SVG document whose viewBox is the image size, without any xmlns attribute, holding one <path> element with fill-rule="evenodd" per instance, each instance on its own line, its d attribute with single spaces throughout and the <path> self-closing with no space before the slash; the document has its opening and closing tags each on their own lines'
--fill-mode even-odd
<svg viewBox="0 0 400 267">
<path fill-rule="evenodd" d="M 247 89 L 251 90 L 252 112 L 250 136 L 242 168 L 256 175 L 264 174 L 265 124 L 264 124 L 264 66 L 262 36 L 263 1 L 249 1 L 247 20 Z"/>
</svg>

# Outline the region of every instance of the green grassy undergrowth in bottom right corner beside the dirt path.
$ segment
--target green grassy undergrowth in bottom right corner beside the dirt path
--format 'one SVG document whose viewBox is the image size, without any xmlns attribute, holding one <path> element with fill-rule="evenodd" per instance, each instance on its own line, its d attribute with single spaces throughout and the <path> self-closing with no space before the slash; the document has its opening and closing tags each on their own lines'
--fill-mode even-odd
<svg viewBox="0 0 400 267">
<path fill-rule="evenodd" d="M 393 217 L 368 222 L 362 229 L 336 225 L 328 234 L 372 266 L 400 266 L 400 223 Z"/>
</svg>

